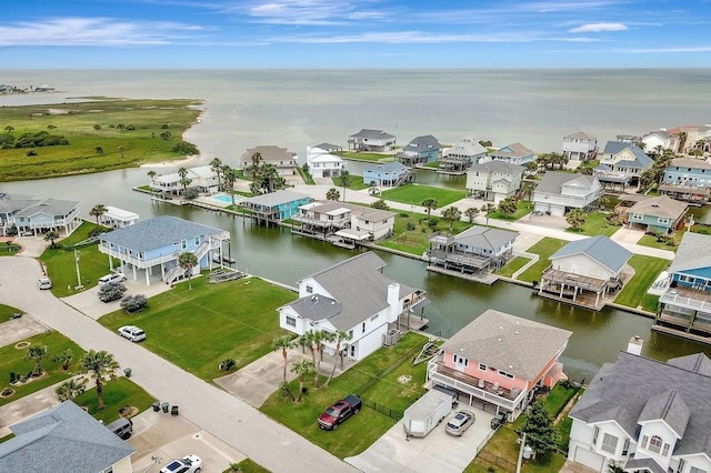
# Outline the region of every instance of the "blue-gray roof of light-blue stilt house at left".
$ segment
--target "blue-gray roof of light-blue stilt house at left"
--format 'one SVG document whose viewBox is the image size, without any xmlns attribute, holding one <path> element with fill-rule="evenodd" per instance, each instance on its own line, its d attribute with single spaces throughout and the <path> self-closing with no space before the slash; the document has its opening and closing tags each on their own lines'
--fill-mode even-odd
<svg viewBox="0 0 711 473">
<path fill-rule="evenodd" d="M 101 234 L 101 241 L 108 241 L 133 251 L 149 251 L 170 245 L 180 240 L 189 240 L 198 235 L 217 235 L 224 230 L 162 215 L 144 220 L 123 229 Z"/>
</svg>

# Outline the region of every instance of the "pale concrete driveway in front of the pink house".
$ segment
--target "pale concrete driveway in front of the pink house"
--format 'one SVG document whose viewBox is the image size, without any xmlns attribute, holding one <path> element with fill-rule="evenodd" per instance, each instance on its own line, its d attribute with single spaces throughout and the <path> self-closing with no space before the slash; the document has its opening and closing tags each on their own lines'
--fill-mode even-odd
<svg viewBox="0 0 711 473">
<path fill-rule="evenodd" d="M 474 424 L 461 437 L 444 432 L 447 420 L 454 411 L 423 439 L 407 440 L 402 421 L 399 421 L 368 450 L 346 461 L 363 472 L 461 472 L 491 432 L 492 415 L 463 404 L 460 407 L 477 416 Z"/>
</svg>

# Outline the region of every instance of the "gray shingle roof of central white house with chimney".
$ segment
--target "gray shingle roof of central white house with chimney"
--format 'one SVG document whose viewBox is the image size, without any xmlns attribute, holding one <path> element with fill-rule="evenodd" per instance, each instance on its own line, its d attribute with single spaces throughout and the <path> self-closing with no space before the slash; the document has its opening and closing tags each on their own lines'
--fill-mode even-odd
<svg viewBox="0 0 711 473">
<path fill-rule="evenodd" d="M 388 306 L 388 286 L 395 281 L 380 272 L 384 265 L 380 256 L 369 251 L 311 275 L 342 306 L 329 319 L 337 329 L 352 329 Z M 412 292 L 414 289 L 400 283 L 400 298 Z M 308 318 L 320 320 L 316 315 Z"/>
</svg>

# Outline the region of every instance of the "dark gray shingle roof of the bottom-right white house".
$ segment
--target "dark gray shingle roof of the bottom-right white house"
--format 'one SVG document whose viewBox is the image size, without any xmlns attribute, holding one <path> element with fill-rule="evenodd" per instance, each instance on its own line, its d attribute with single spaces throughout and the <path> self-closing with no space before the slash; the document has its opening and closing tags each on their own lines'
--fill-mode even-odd
<svg viewBox="0 0 711 473">
<path fill-rule="evenodd" d="M 698 356 L 705 358 L 703 354 Z M 685 365 L 688 361 L 682 360 L 681 364 Z M 683 437 L 677 442 L 675 455 L 711 455 L 711 403 L 708 396 L 711 376 L 677 366 L 677 362 L 669 360 L 662 363 L 620 352 L 614 364 L 607 364 L 600 370 L 569 415 L 587 423 L 617 421 L 630 436 L 637 439 L 637 425 L 642 413 L 649 420 L 648 414 L 658 410 L 660 419 L 663 414 L 670 426 L 675 425 L 674 429 L 683 432 Z M 707 359 L 698 364 L 705 366 L 708 363 Z M 672 391 L 675 392 L 673 396 Z M 660 393 L 661 397 L 652 400 Z M 670 405 L 660 410 L 664 396 Z M 672 405 L 678 402 L 674 401 L 675 396 L 683 401 L 690 413 L 683 429 L 680 425 L 684 424 L 687 412 L 680 403 Z M 651 406 L 648 407 L 650 402 Z"/>
</svg>

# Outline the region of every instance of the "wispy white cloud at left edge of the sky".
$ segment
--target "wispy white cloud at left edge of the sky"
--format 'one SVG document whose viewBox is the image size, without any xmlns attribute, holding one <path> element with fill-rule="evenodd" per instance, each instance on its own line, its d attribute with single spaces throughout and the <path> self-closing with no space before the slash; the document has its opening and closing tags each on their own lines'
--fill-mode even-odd
<svg viewBox="0 0 711 473">
<path fill-rule="evenodd" d="M 0 47 L 168 44 L 186 38 L 188 31 L 204 31 L 204 28 L 170 21 L 57 18 L 0 26 Z"/>
</svg>

